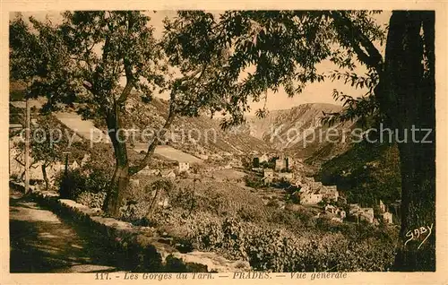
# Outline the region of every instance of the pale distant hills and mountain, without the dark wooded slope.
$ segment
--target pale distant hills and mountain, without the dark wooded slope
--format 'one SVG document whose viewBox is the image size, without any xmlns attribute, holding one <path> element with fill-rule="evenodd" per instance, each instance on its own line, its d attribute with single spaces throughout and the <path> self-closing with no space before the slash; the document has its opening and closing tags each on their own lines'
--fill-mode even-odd
<svg viewBox="0 0 448 285">
<path fill-rule="evenodd" d="M 13 104 L 21 103 L 13 102 Z M 219 118 L 177 117 L 171 127 L 173 132 L 168 133 L 167 143 L 199 158 L 202 158 L 202 155 L 210 154 L 244 155 L 251 151 L 283 151 L 319 166 L 323 161 L 330 160 L 349 148 L 346 142 L 325 140 L 329 128 L 320 124 L 323 112 L 335 112 L 340 108 L 340 106 L 332 104 L 312 103 L 286 110 L 273 110 L 262 119 L 248 117 L 245 125 L 240 125 L 229 131 L 223 131 L 220 128 Z M 134 143 L 151 141 L 150 138 L 142 137 L 141 133 L 148 128 L 150 128 L 149 134 L 157 133 L 164 124 L 167 114 L 167 100 L 154 98 L 151 103 L 146 104 L 142 103 L 141 94 L 136 92 L 131 94 L 123 109 L 122 120 L 126 129 L 139 131 L 129 140 L 130 146 Z M 67 121 L 65 125 L 70 125 L 73 118 L 63 116 L 61 120 Z M 100 118 L 94 120 L 93 123 L 103 132 L 107 130 Z M 91 126 L 89 122 L 80 125 Z M 348 122 L 335 125 L 332 128 L 341 134 L 343 130 L 351 130 L 353 125 Z"/>
</svg>

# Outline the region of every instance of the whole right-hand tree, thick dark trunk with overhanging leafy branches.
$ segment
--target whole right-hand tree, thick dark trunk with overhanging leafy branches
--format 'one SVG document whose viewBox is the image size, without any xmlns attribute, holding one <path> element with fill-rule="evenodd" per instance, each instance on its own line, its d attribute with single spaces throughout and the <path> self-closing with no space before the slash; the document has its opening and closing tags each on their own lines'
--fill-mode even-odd
<svg viewBox="0 0 448 285">
<path fill-rule="evenodd" d="M 418 243 L 404 247 L 406 232 L 421 224 L 435 221 L 435 13 L 393 12 L 387 39 L 385 30 L 375 24 L 375 12 L 366 11 L 240 11 L 226 12 L 216 22 L 211 13 L 182 12 L 183 22 L 178 39 L 185 35 L 201 34 L 202 41 L 180 42 L 191 60 L 201 58 L 217 46 L 231 46 L 228 65 L 224 65 L 208 91 L 216 91 L 223 98 L 229 96 L 232 108 L 237 108 L 224 119 L 223 125 L 244 120 L 246 98 L 263 99 L 268 88 L 280 85 L 290 96 L 302 91 L 308 82 L 324 80 L 315 65 L 324 59 L 338 65 L 340 70 L 353 71 L 358 60 L 367 68 L 367 76 L 352 72 L 336 72 L 333 79 L 346 79 L 353 86 L 366 87 L 366 96 L 352 99 L 336 93 L 346 102 L 334 120 L 349 120 L 377 114 L 387 126 L 403 134 L 412 126 L 431 130 L 430 143 L 399 143 L 401 160 L 401 246 L 395 268 L 397 270 L 435 270 L 435 236 L 424 247 Z M 202 29 L 197 29 L 198 25 Z M 422 31 L 422 32 L 420 32 Z M 204 43 L 203 41 L 209 39 Z M 302 41 L 300 39 L 306 39 Z M 375 42 L 386 42 L 383 58 Z M 337 42 L 337 45 L 334 43 Z M 211 47 L 204 50 L 201 47 Z M 221 53 L 222 54 L 222 53 Z M 238 81 L 247 66 L 254 65 L 254 73 Z M 406 73 L 401 71 L 405 70 Z M 232 100 L 233 99 L 233 100 Z M 238 104 L 239 103 L 239 104 Z M 237 107 L 235 107 L 237 105 Z M 263 110 L 259 112 L 263 115 Z M 429 115 L 429 116 L 428 116 Z"/>
</svg>

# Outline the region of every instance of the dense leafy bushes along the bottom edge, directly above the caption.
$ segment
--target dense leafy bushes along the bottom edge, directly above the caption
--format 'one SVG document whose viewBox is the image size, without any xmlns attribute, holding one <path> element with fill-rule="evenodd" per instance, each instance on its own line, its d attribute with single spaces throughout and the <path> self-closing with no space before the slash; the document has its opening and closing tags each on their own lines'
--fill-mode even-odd
<svg viewBox="0 0 448 285">
<path fill-rule="evenodd" d="M 292 235 L 236 219 L 196 217 L 187 222 L 196 248 L 248 261 L 255 271 L 386 271 L 394 243 L 353 240 L 341 233 Z"/>
</svg>

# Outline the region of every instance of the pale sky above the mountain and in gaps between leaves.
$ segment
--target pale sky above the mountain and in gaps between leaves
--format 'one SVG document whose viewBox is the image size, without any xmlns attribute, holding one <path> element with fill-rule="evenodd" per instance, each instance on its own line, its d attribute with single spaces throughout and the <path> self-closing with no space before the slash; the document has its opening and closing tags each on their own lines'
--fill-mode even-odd
<svg viewBox="0 0 448 285">
<path fill-rule="evenodd" d="M 48 17 L 51 22 L 58 23 L 61 22 L 62 17 L 60 15 L 61 12 L 27 12 L 22 13 L 25 18 L 33 15 L 38 20 L 45 20 Z M 216 12 L 219 13 L 219 12 Z M 148 12 L 151 17 L 151 25 L 154 27 L 154 36 L 156 38 L 161 37 L 163 32 L 163 24 L 162 20 L 165 17 L 172 18 L 176 16 L 176 11 L 158 11 L 157 13 Z M 387 24 L 389 22 L 391 16 L 391 12 L 385 11 L 376 16 L 376 21 L 381 24 Z M 380 50 L 380 52 L 384 53 L 384 47 L 376 46 Z M 317 71 L 320 73 L 326 73 L 337 69 L 336 65 L 333 65 L 330 61 L 324 61 L 321 64 L 317 65 Z M 366 69 L 364 67 L 360 67 L 355 70 L 358 74 L 366 73 Z M 293 98 L 289 98 L 286 92 L 280 88 L 277 93 L 273 91 L 268 91 L 268 99 L 266 103 L 266 108 L 269 110 L 275 109 L 288 109 L 294 106 L 305 104 L 305 103 L 329 103 L 329 104 L 341 104 L 340 101 L 335 101 L 332 98 L 332 91 L 336 89 L 338 91 L 342 91 L 345 94 L 349 94 L 353 97 L 359 97 L 366 93 L 363 90 L 356 90 L 351 88 L 348 84 L 344 84 L 344 82 L 314 82 L 306 85 L 306 88 L 302 91 L 301 94 L 297 94 Z M 168 94 L 159 95 L 161 98 L 168 99 Z M 258 108 L 263 108 L 264 100 L 260 102 L 252 102 L 250 104 L 251 111 L 248 112 L 248 115 L 254 115 L 254 112 Z"/>
</svg>

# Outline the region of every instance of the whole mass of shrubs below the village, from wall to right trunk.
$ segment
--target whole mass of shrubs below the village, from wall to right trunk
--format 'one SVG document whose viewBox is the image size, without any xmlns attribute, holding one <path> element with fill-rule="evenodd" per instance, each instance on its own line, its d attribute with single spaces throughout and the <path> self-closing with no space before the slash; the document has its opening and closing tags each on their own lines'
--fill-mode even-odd
<svg viewBox="0 0 448 285">
<path fill-rule="evenodd" d="M 170 207 L 154 209 L 146 219 L 152 196 L 143 197 L 147 190 L 134 191 L 138 203 L 125 209 L 124 217 L 165 232 L 183 251 L 217 252 L 246 260 L 257 271 L 386 271 L 392 267 L 398 233 L 393 228 L 315 220 L 306 211 L 264 206 L 244 188 L 185 179 L 170 190 Z"/>
</svg>

